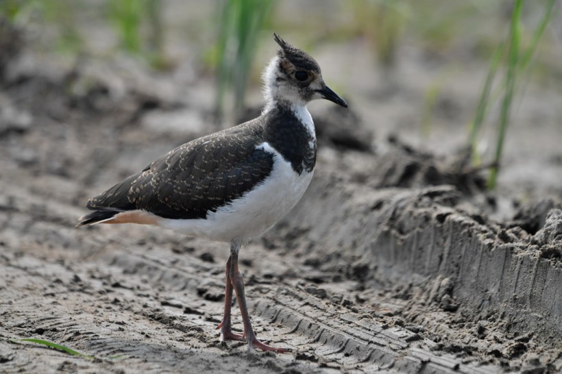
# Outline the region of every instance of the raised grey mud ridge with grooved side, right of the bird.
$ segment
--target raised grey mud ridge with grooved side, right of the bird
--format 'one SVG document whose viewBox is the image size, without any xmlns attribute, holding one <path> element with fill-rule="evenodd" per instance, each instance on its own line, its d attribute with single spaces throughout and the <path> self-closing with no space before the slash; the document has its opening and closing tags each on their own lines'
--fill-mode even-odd
<svg viewBox="0 0 562 374">
<path fill-rule="evenodd" d="M 292 255 L 358 281 L 360 290 L 406 290 L 405 297 L 393 295 L 405 299 L 397 313 L 406 321 L 428 331 L 461 321 L 474 329 L 486 325 L 506 340 L 533 336 L 535 344 L 552 348 L 552 362 L 559 358 L 562 263 L 553 248 L 562 247 L 560 210 L 552 208 L 533 235 L 487 219 L 452 186 L 374 190 L 349 183 L 333 173 L 315 179 L 303 203 L 268 238 L 307 227 L 296 240 L 313 242 L 321 253 L 297 247 Z M 442 321 L 424 318 L 428 310 Z M 502 353 L 481 342 L 465 348 L 501 361 L 530 346 L 513 353 L 506 345 Z"/>
</svg>

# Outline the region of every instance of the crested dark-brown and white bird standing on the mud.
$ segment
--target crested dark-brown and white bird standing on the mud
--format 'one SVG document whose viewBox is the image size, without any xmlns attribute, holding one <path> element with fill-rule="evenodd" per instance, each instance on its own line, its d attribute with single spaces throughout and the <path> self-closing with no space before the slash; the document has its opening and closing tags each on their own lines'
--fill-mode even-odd
<svg viewBox="0 0 562 374">
<path fill-rule="evenodd" d="M 300 201 L 313 177 L 317 142 L 306 104 L 347 103 L 323 80 L 308 53 L 273 33 L 279 49 L 264 73 L 265 107 L 241 125 L 191 140 L 145 169 L 88 200 L 93 210 L 77 226 L 137 223 L 230 243 L 225 266 L 222 340 L 247 342 L 248 350 L 291 349 L 258 340 L 245 299 L 238 260 L 241 247 L 271 229 Z M 232 331 L 233 292 L 243 333 Z"/>
</svg>

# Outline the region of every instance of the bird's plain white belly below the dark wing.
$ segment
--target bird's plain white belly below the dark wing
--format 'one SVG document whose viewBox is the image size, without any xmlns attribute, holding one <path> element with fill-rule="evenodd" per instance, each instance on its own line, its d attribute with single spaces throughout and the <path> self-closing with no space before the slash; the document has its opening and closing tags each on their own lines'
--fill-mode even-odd
<svg viewBox="0 0 562 374">
<path fill-rule="evenodd" d="M 291 168 L 291 163 L 283 160 L 267 143 L 258 148 L 274 154 L 273 171 L 262 184 L 217 212 L 209 212 L 206 219 L 161 219 L 160 226 L 189 236 L 225 242 L 239 240 L 242 243 L 271 229 L 301 199 L 313 171 L 303 171 L 298 175 Z"/>
</svg>

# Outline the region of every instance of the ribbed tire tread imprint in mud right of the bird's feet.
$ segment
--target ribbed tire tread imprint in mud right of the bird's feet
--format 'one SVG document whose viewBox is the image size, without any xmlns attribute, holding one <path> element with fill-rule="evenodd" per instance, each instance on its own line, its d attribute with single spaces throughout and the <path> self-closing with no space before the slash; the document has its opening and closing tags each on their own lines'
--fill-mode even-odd
<svg viewBox="0 0 562 374">
<path fill-rule="evenodd" d="M 270 290 L 270 293 L 273 290 Z M 274 303 L 271 302 L 274 301 Z M 282 286 L 273 298 L 254 304 L 256 316 L 284 326 L 291 342 L 328 366 L 347 370 L 404 373 L 494 373 L 493 369 L 459 364 L 452 355 L 432 353 L 435 343 L 402 327 L 380 323 L 367 314 L 326 305 L 298 288 Z M 312 317 L 314 316 L 314 317 Z M 306 353 L 300 353 L 306 356 Z"/>
</svg>

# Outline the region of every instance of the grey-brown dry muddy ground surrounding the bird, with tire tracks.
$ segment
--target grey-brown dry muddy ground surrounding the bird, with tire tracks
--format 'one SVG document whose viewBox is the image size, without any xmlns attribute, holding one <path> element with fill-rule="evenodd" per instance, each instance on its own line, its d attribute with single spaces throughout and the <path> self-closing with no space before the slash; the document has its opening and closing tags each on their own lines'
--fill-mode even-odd
<svg viewBox="0 0 562 374">
<path fill-rule="evenodd" d="M 493 221 L 477 176 L 403 147 L 376 155 L 362 129 L 339 144 L 320 130 L 302 203 L 241 253 L 258 337 L 293 353 L 220 342 L 228 245 L 74 227 L 90 195 L 210 131 L 179 138 L 158 126 L 167 113 L 205 114 L 138 82 L 115 95 L 83 71 L 41 72 L 12 71 L 0 93 L 0 371 L 562 371 L 560 205 Z"/>
</svg>

